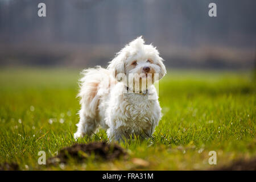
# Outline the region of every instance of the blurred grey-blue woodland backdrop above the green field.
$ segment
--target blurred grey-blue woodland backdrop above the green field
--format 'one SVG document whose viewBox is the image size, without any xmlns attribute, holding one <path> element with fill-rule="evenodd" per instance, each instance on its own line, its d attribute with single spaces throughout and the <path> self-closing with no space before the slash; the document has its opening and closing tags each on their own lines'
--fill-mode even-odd
<svg viewBox="0 0 256 182">
<path fill-rule="evenodd" d="M 46 3 L 46 17 L 38 3 Z M 217 17 L 208 5 L 217 4 Z M 0 67 L 105 66 L 143 36 L 168 68 L 253 69 L 255 0 L 0 0 Z"/>
</svg>

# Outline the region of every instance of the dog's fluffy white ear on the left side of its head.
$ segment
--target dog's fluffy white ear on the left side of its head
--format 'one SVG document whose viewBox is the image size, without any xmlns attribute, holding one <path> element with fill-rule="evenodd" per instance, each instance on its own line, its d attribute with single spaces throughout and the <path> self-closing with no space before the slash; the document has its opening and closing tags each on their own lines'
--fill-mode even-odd
<svg viewBox="0 0 256 182">
<path fill-rule="evenodd" d="M 115 77 L 118 73 L 125 74 L 125 60 L 127 58 L 127 53 L 124 50 L 121 50 L 117 53 L 117 56 L 114 57 L 110 64 L 108 65 L 108 69 L 114 70 Z"/>
</svg>

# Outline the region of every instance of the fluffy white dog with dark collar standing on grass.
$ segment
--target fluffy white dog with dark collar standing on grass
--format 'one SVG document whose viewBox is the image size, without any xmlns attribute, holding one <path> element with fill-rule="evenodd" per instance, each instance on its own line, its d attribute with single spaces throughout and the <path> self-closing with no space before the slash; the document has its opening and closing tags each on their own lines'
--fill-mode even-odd
<svg viewBox="0 0 256 182">
<path fill-rule="evenodd" d="M 162 61 L 158 50 L 139 37 L 118 52 L 107 69 L 85 69 L 74 137 L 91 135 L 98 126 L 107 130 L 110 140 L 150 137 L 162 115 L 153 85 L 166 74 Z"/>
</svg>

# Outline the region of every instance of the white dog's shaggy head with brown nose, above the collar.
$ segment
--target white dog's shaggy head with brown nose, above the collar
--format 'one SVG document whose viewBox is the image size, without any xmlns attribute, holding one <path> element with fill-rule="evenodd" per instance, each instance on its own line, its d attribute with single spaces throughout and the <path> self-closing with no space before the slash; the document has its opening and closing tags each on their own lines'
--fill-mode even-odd
<svg viewBox="0 0 256 182">
<path fill-rule="evenodd" d="M 125 74 L 129 82 L 132 75 L 135 80 L 146 78 L 153 84 L 156 79 L 160 80 L 166 74 L 162 61 L 158 50 L 151 44 L 145 45 L 144 40 L 139 37 L 118 52 L 108 68 L 115 71 L 115 76 L 119 73 Z"/>
</svg>

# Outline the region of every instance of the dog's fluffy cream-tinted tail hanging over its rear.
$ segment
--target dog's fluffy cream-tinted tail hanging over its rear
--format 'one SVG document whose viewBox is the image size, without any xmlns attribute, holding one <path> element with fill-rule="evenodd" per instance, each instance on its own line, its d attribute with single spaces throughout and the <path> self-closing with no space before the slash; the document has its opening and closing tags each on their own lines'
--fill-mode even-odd
<svg viewBox="0 0 256 182">
<path fill-rule="evenodd" d="M 98 91 L 104 85 L 106 78 L 110 77 L 110 74 L 108 69 L 101 68 L 100 66 L 85 69 L 81 74 L 83 77 L 79 82 L 80 92 L 77 97 L 80 97 L 81 106 L 85 107 L 85 109 L 82 109 L 85 112 L 83 114 L 94 118 L 97 114 L 97 107 L 101 97 Z"/>
</svg>

